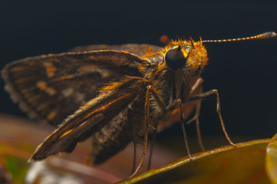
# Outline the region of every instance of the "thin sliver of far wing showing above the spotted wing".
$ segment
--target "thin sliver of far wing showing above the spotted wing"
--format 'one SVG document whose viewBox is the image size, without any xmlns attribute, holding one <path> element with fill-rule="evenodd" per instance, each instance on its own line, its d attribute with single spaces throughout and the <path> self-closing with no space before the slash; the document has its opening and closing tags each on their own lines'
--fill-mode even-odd
<svg viewBox="0 0 277 184">
<path fill-rule="evenodd" d="M 157 52 L 163 48 L 150 44 L 123 44 L 123 45 L 88 45 L 76 46 L 71 49 L 74 52 L 89 51 L 89 50 L 125 50 L 128 53 L 143 56 Z"/>
</svg>

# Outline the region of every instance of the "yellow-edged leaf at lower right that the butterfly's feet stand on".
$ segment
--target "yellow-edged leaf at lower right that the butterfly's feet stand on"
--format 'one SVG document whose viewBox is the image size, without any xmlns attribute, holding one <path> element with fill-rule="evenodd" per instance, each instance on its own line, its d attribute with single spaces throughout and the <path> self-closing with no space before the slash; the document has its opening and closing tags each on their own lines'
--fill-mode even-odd
<svg viewBox="0 0 277 184">
<path fill-rule="evenodd" d="M 192 161 L 181 158 L 122 183 L 270 183 L 265 170 L 270 141 L 274 144 L 274 158 L 270 159 L 275 159 L 275 163 L 269 166 L 272 171 L 273 167 L 276 169 L 277 142 L 262 139 L 238 143 L 236 148 L 227 145 L 193 154 Z"/>
</svg>

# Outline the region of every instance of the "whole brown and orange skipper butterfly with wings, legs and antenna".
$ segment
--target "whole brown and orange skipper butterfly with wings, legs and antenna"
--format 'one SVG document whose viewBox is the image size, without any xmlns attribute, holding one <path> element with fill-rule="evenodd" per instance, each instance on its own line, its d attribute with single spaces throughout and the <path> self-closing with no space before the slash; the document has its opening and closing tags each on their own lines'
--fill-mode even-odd
<svg viewBox="0 0 277 184">
<path fill-rule="evenodd" d="M 186 150 L 190 150 L 184 121 L 186 104 L 193 106 L 199 144 L 201 100 L 217 96 L 203 92 L 201 73 L 208 64 L 205 42 L 230 42 L 274 37 L 263 33 L 229 40 L 193 39 L 171 41 L 164 48 L 149 44 L 78 46 L 68 53 L 27 57 L 7 64 L 2 71 L 6 90 L 30 117 L 58 128 L 37 147 L 30 160 L 43 160 L 60 152 L 71 152 L 78 142 L 92 140 L 91 161 L 100 164 L 137 142 L 143 131 L 144 149 L 134 176 L 141 167 L 148 145 L 148 132 L 168 126 L 167 118 L 181 122 Z M 191 109 L 190 109 L 191 110 Z M 172 120 L 171 120 L 172 121 Z M 160 124 L 160 125 L 159 125 Z M 132 177 L 131 176 L 131 177 Z"/>
</svg>

